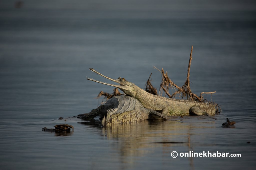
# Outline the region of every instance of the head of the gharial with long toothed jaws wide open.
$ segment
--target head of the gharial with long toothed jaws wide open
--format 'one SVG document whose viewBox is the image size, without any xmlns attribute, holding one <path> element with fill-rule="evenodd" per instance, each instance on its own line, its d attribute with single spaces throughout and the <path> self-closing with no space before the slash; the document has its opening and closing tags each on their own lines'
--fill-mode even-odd
<svg viewBox="0 0 256 170">
<path fill-rule="evenodd" d="M 109 77 L 107 77 L 107 76 L 104 76 L 103 74 L 101 74 L 101 73 L 95 71 L 93 68 L 90 68 L 90 70 L 91 70 L 92 72 L 94 72 L 94 73 L 96 73 L 96 74 L 102 76 L 102 77 L 105 77 L 105 78 L 108 79 L 108 80 L 111 80 L 111 81 L 113 81 L 113 82 L 119 83 L 120 85 L 115 85 L 115 84 L 110 84 L 110 83 L 104 83 L 104 82 L 101 82 L 101 81 L 94 80 L 94 79 L 92 79 L 92 78 L 86 77 L 87 80 L 91 80 L 91 81 L 98 82 L 98 83 L 101 83 L 101 84 L 106 84 L 106 85 L 113 86 L 113 87 L 117 87 L 117 88 L 119 88 L 120 90 L 122 90 L 126 95 L 131 95 L 130 93 L 131 93 L 132 91 L 134 91 L 134 88 L 137 87 L 135 84 L 133 84 L 133 83 L 131 83 L 131 82 L 125 80 L 124 78 L 118 77 L 118 79 L 115 80 L 115 79 L 111 79 L 111 78 L 109 78 Z"/>
</svg>

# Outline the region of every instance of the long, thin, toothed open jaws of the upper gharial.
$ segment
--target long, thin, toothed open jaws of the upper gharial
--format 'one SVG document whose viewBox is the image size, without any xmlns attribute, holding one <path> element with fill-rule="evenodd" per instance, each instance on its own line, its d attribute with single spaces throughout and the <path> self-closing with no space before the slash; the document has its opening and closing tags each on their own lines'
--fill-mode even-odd
<svg viewBox="0 0 256 170">
<path fill-rule="evenodd" d="M 113 87 L 117 87 L 117 88 L 120 88 L 121 90 L 122 90 L 122 89 L 124 89 L 124 90 L 133 90 L 133 87 L 130 87 L 130 86 L 126 85 L 124 82 L 121 82 L 119 79 L 116 79 L 116 80 L 115 80 L 115 79 L 111 79 L 111 78 L 109 78 L 109 77 L 107 77 L 107 76 L 104 76 L 103 74 L 101 74 L 101 73 L 95 71 L 93 68 L 90 68 L 90 70 L 91 70 L 92 72 L 94 72 L 94 73 L 96 73 L 96 74 L 98 74 L 98 75 L 100 75 L 100 76 L 102 76 L 102 77 L 108 79 L 108 80 L 111 80 L 111 81 L 113 81 L 113 82 L 115 82 L 115 83 L 119 83 L 120 85 L 110 84 L 110 83 L 104 83 L 104 82 L 101 82 L 101 81 L 94 80 L 94 79 L 92 79 L 92 78 L 86 77 L 87 80 L 91 80 L 91 81 L 94 81 L 94 82 L 97 82 L 97 83 L 101 83 L 101 84 L 105 84 L 105 85 L 109 85 L 109 86 L 113 86 Z"/>
</svg>

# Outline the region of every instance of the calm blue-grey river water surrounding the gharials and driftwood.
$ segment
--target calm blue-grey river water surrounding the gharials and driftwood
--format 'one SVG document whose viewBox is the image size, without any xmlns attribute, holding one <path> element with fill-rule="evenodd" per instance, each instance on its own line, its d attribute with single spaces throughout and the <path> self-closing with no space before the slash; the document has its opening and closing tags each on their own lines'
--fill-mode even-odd
<svg viewBox="0 0 256 170">
<path fill-rule="evenodd" d="M 2 1 L 0 7 L 1 169 L 255 169 L 255 4 L 216 1 Z M 145 3 L 145 4 L 144 4 Z M 229 4 L 230 3 L 230 4 Z M 217 91 L 214 117 L 184 116 L 101 128 L 72 117 L 97 108 L 113 88 L 89 71 L 159 89 L 190 69 L 194 93 Z M 230 128 L 221 127 L 229 118 Z M 56 124 L 64 134 L 43 132 Z M 247 143 L 250 142 L 250 143 Z M 180 157 L 173 151 L 241 157 Z"/>
</svg>

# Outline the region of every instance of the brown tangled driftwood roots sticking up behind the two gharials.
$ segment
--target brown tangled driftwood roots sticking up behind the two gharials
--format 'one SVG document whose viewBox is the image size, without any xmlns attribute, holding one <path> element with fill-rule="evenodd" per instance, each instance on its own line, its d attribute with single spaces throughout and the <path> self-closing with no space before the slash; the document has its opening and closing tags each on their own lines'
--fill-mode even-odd
<svg viewBox="0 0 256 170">
<path fill-rule="evenodd" d="M 189 81 L 189 76 L 190 76 L 190 66 L 191 66 L 191 60 L 192 60 L 192 52 L 193 52 L 193 46 L 191 46 L 191 51 L 190 51 L 190 57 L 189 57 L 189 63 L 188 63 L 188 71 L 187 71 L 187 79 L 186 82 L 184 83 L 184 85 L 182 87 L 179 87 L 178 85 L 176 85 L 169 77 L 167 74 L 167 71 L 164 72 L 164 69 L 162 68 L 161 70 L 159 70 L 158 68 L 154 67 L 155 69 L 157 69 L 159 72 L 161 72 L 162 74 L 162 81 L 160 84 L 160 88 L 159 88 L 159 96 L 163 95 L 163 92 L 165 93 L 165 95 L 167 95 L 169 98 L 175 98 L 176 96 L 183 98 L 186 98 L 188 100 L 194 100 L 194 101 L 199 101 L 199 102 L 208 102 L 208 103 L 212 103 L 212 104 L 216 104 L 216 108 L 218 110 L 218 113 L 221 112 L 221 108 L 220 106 L 212 101 L 208 101 L 206 99 L 204 99 L 203 94 L 213 94 L 216 93 L 216 91 L 211 91 L 211 92 L 201 92 L 200 96 L 197 96 L 195 93 L 193 93 L 190 89 L 190 81 Z M 154 94 L 154 95 L 158 95 L 157 94 L 157 89 L 151 84 L 151 75 L 150 74 L 145 86 L 145 90 L 148 93 Z M 175 90 L 174 93 L 170 94 L 169 93 L 169 88 L 172 88 Z M 111 97 L 114 96 L 118 96 L 118 95 L 122 95 L 117 88 L 114 89 L 114 93 L 109 94 L 106 92 L 101 91 L 98 95 L 98 97 L 100 96 L 105 96 L 104 98 L 106 99 L 110 99 Z"/>
</svg>

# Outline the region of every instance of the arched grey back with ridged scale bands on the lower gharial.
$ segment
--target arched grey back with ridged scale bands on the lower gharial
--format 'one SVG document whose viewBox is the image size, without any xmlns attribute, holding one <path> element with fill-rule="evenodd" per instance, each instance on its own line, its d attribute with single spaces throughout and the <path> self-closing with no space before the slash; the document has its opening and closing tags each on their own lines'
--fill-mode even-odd
<svg viewBox="0 0 256 170">
<path fill-rule="evenodd" d="M 113 106 L 107 109 L 110 115 L 143 108 L 142 104 L 137 99 L 126 95 L 112 97 L 107 100 L 105 104 L 111 104 Z"/>
</svg>

